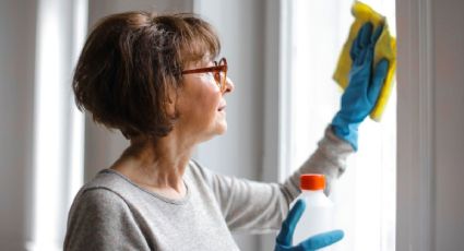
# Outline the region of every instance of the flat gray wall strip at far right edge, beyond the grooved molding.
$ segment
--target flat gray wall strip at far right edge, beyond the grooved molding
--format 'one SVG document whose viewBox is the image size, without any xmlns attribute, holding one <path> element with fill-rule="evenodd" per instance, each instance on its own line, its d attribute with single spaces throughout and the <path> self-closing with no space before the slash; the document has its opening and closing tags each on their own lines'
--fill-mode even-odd
<svg viewBox="0 0 464 251">
<path fill-rule="evenodd" d="M 464 2 L 433 0 L 435 250 L 463 250 Z"/>
</svg>

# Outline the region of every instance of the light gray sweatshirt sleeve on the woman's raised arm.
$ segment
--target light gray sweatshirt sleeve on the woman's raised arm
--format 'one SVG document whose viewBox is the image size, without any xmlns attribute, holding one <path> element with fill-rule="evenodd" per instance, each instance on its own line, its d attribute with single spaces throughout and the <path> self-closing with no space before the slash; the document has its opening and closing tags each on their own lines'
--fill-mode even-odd
<svg viewBox="0 0 464 251">
<path fill-rule="evenodd" d="M 329 127 L 318 150 L 284 183 L 255 182 L 199 169 L 213 190 L 229 229 L 263 234 L 281 228 L 289 203 L 300 193 L 300 174 L 324 174 L 329 192 L 330 184 L 344 172 L 349 153 L 352 146 L 337 139 Z"/>
</svg>

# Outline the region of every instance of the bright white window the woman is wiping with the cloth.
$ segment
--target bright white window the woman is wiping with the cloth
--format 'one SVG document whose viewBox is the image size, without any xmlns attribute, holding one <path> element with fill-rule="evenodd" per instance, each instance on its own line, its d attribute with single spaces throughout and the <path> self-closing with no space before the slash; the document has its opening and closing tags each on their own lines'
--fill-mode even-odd
<svg viewBox="0 0 464 251">
<path fill-rule="evenodd" d="M 395 34 L 394 0 L 364 1 L 388 17 Z M 332 80 L 342 46 L 353 23 L 350 1 L 284 1 L 284 131 L 289 167 L 298 168 L 317 147 L 324 128 L 338 110 L 341 91 Z M 392 92 L 380 123 L 367 119 L 359 128 L 359 151 L 331 199 L 336 204 L 345 239 L 334 250 L 394 250 L 396 177 L 396 94 Z"/>
</svg>

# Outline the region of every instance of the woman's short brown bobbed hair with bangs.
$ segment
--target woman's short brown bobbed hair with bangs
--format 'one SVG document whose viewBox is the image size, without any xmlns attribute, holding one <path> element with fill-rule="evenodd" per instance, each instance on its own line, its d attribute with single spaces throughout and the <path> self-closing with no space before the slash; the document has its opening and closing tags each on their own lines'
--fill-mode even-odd
<svg viewBox="0 0 464 251">
<path fill-rule="evenodd" d="M 183 65 L 219 50 L 212 26 L 194 14 L 109 15 L 93 28 L 79 58 L 76 105 L 127 139 L 165 136 L 175 121 L 166 111 L 168 85 L 177 89 Z"/>
</svg>

